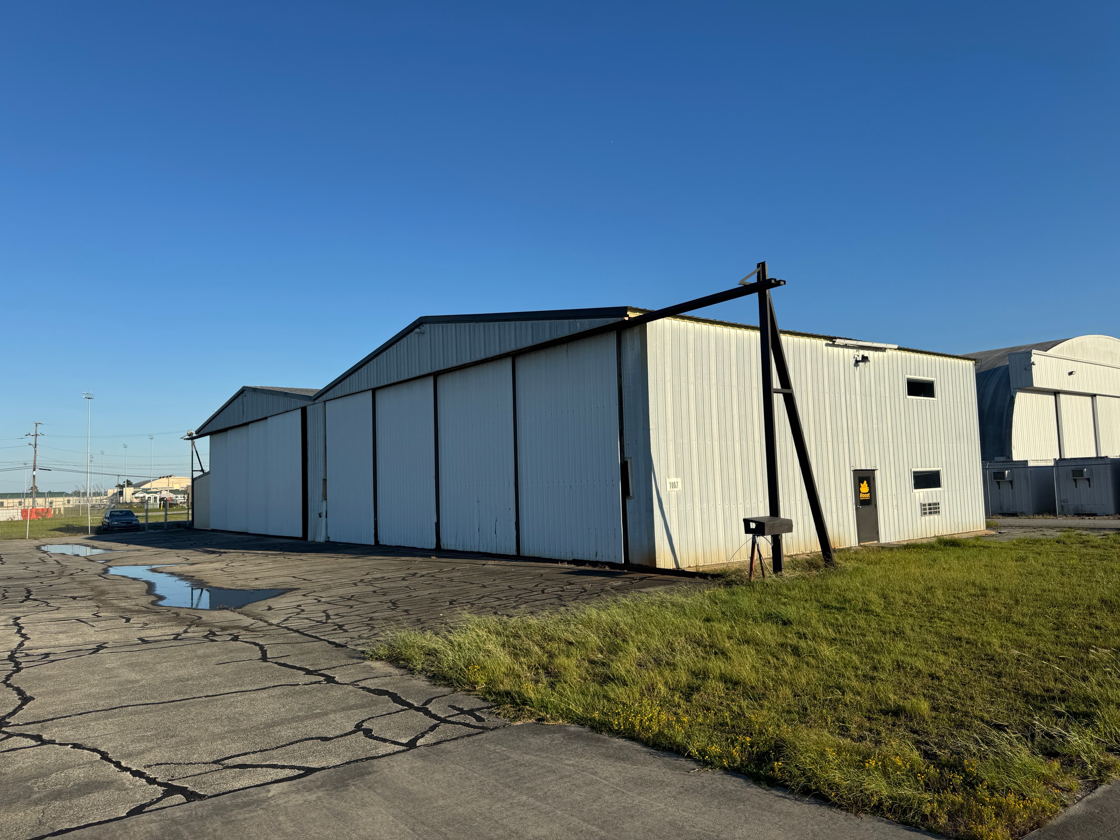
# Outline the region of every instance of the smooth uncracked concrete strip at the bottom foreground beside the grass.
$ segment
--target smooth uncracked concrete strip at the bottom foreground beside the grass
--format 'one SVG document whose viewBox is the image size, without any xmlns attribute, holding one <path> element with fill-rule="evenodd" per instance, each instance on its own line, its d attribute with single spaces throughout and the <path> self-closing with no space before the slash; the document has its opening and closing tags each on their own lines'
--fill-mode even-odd
<svg viewBox="0 0 1120 840">
<path fill-rule="evenodd" d="M 526 724 L 75 832 L 83 840 L 241 837 L 931 837 L 769 791 L 570 726 Z"/>
</svg>

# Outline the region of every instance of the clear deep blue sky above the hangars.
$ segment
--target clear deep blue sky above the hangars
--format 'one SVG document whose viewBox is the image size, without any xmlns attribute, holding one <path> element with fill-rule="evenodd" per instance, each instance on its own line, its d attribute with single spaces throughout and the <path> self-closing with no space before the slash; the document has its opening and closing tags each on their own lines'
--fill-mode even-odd
<svg viewBox="0 0 1120 840">
<path fill-rule="evenodd" d="M 82 463 L 88 390 L 105 472 L 181 473 L 420 315 L 762 259 L 791 329 L 1117 335 L 1118 44 L 1112 2 L 7 3 L 0 467 L 34 420 Z"/>
</svg>

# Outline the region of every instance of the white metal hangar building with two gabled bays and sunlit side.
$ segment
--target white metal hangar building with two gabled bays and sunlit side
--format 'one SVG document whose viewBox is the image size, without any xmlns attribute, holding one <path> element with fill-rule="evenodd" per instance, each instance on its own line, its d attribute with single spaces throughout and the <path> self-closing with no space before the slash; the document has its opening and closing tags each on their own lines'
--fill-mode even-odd
<svg viewBox="0 0 1120 840">
<path fill-rule="evenodd" d="M 644 311 L 424 317 L 319 391 L 242 389 L 196 432 L 211 438 L 196 522 L 668 568 L 743 559 L 743 519 L 767 513 L 758 330 L 627 327 Z M 973 360 L 782 343 L 833 547 L 983 529 Z M 815 551 L 781 400 L 775 413 L 785 551 Z"/>
</svg>

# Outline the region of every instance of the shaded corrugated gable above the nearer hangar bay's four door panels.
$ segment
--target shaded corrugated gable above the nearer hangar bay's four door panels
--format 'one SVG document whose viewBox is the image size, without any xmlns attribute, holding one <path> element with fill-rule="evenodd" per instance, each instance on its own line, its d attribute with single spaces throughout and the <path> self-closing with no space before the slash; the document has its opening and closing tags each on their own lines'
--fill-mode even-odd
<svg viewBox="0 0 1120 840">
<path fill-rule="evenodd" d="M 388 385 L 615 320 L 617 318 L 423 324 L 319 399 Z"/>
</svg>

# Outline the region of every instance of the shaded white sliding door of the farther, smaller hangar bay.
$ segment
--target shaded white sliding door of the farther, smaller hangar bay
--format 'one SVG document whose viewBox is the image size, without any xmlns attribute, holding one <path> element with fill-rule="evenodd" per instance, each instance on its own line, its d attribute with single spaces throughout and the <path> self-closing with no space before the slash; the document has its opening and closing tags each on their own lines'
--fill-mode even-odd
<svg viewBox="0 0 1120 840">
<path fill-rule="evenodd" d="M 273 414 L 209 438 L 209 526 L 302 536 L 304 410 Z"/>
</svg>

